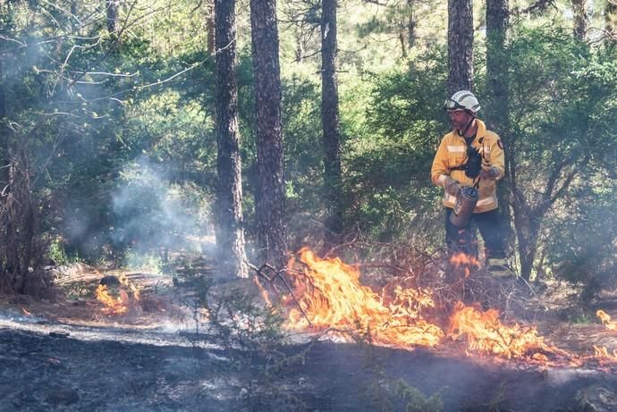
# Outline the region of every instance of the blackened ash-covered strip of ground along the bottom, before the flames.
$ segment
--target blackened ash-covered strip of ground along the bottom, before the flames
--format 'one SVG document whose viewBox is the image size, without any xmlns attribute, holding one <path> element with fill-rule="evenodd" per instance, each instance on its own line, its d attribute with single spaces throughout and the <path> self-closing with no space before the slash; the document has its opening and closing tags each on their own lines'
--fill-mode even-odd
<svg viewBox="0 0 617 412">
<path fill-rule="evenodd" d="M 540 370 L 332 342 L 317 343 L 301 362 L 269 378 L 239 369 L 224 351 L 165 340 L 98 341 L 4 328 L 0 353 L 2 411 L 405 410 L 409 399 L 397 395 L 399 379 L 427 396 L 438 393 L 447 411 L 614 410 L 617 391 L 617 376 L 597 370 Z M 604 409 L 584 409 L 582 397 L 603 393 Z"/>
</svg>

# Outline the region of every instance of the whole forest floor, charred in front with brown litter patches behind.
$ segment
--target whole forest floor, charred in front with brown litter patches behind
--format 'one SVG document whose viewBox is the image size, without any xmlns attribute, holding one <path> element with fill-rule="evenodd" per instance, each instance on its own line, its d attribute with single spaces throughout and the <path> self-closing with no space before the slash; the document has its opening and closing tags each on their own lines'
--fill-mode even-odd
<svg viewBox="0 0 617 412">
<path fill-rule="evenodd" d="M 106 274 L 75 265 L 55 299 L 0 296 L 0 411 L 617 410 L 614 363 L 537 366 L 452 343 L 404 350 L 299 335 L 275 349 L 275 367 L 259 350 L 196 339 L 196 309 L 171 276 L 127 273 L 139 302 L 106 314 L 93 297 Z M 617 299 L 586 312 L 564 285 L 542 289 L 535 324 L 546 341 L 581 356 L 617 348 L 590 311 L 614 319 Z"/>
</svg>

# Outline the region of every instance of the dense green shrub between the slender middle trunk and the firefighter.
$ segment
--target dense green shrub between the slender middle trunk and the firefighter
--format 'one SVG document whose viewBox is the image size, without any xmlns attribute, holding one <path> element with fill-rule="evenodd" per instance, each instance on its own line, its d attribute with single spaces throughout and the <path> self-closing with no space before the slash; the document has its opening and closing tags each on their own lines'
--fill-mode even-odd
<svg viewBox="0 0 617 412">
<path fill-rule="evenodd" d="M 359 222 L 380 240 L 409 237 L 419 216 L 436 218 L 438 191 L 428 173 L 447 125 L 441 111 L 445 61 L 435 49 L 406 71 L 365 79 L 374 84 L 367 130 L 345 142 L 345 184 L 351 198 L 349 221 Z"/>
</svg>

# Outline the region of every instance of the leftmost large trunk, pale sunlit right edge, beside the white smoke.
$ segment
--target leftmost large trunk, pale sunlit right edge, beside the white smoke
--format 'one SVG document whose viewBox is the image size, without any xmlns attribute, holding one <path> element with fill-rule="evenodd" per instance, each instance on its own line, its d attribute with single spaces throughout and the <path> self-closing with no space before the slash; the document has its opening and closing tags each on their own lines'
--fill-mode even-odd
<svg viewBox="0 0 617 412">
<path fill-rule="evenodd" d="M 216 0 L 216 246 L 225 274 L 247 277 L 242 225 L 242 167 L 238 138 L 235 0 Z"/>
</svg>

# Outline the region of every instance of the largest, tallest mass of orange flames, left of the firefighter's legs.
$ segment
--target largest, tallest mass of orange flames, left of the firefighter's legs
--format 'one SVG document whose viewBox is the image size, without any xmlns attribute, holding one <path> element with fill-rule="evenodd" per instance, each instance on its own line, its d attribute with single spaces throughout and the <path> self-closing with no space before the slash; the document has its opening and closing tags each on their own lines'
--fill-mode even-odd
<svg viewBox="0 0 617 412">
<path fill-rule="evenodd" d="M 368 331 L 376 343 L 407 348 L 435 346 L 444 336 L 439 326 L 419 315 L 420 307 L 433 305 L 426 291 L 397 288 L 386 305 L 373 290 L 359 284 L 359 271 L 338 257 L 320 259 L 305 248 L 300 250 L 300 261 L 304 269 L 293 280 L 297 306 L 291 296 L 283 301 L 291 307 L 289 328 Z"/>
</svg>

